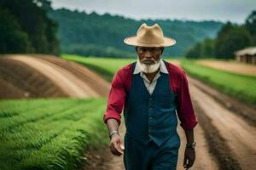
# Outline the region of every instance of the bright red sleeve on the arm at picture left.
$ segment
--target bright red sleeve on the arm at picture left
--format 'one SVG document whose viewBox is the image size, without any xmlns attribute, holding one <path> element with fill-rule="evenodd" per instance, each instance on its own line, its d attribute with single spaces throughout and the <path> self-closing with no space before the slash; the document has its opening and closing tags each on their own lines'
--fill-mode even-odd
<svg viewBox="0 0 256 170">
<path fill-rule="evenodd" d="M 113 77 L 111 89 L 108 94 L 108 104 L 105 114 L 103 115 L 103 122 L 107 123 L 108 119 L 116 119 L 119 124 L 121 122 L 121 113 L 125 104 L 125 86 L 122 71 L 118 71 Z"/>
</svg>

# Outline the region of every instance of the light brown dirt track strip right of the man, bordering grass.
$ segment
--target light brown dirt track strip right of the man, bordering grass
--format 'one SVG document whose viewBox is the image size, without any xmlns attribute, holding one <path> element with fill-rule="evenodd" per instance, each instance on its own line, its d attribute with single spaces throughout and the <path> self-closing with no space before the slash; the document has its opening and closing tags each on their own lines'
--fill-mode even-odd
<svg viewBox="0 0 256 170">
<path fill-rule="evenodd" d="M 191 96 L 228 144 L 242 169 L 256 169 L 256 129 L 190 83 Z M 221 141 L 220 141 L 221 142 Z"/>
</svg>

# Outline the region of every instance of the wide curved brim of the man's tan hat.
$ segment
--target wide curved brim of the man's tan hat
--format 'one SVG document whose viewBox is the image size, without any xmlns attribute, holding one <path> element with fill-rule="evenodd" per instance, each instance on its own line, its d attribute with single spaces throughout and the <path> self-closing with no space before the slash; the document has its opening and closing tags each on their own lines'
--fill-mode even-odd
<svg viewBox="0 0 256 170">
<path fill-rule="evenodd" d="M 124 42 L 131 46 L 142 46 L 142 47 L 169 47 L 176 43 L 175 39 L 172 37 L 164 37 L 164 42 L 154 43 L 154 42 L 138 42 L 137 37 L 126 37 Z"/>
</svg>

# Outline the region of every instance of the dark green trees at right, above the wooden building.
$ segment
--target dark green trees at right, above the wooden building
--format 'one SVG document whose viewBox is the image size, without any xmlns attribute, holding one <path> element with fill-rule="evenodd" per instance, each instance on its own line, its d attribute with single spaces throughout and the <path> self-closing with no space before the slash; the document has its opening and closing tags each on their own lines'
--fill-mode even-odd
<svg viewBox="0 0 256 170">
<path fill-rule="evenodd" d="M 247 16 L 241 26 L 227 22 L 216 38 L 197 42 L 186 54 L 188 58 L 216 57 L 233 59 L 236 50 L 256 46 L 256 10 Z"/>
</svg>

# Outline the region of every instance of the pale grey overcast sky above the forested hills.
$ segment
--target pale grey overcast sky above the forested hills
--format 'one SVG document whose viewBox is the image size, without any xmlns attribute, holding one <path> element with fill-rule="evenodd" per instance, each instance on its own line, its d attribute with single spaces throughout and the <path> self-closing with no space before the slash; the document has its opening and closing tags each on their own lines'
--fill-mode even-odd
<svg viewBox="0 0 256 170">
<path fill-rule="evenodd" d="M 133 19 L 230 20 L 243 23 L 256 0 L 51 0 L 53 8 L 119 14 Z"/>
</svg>

